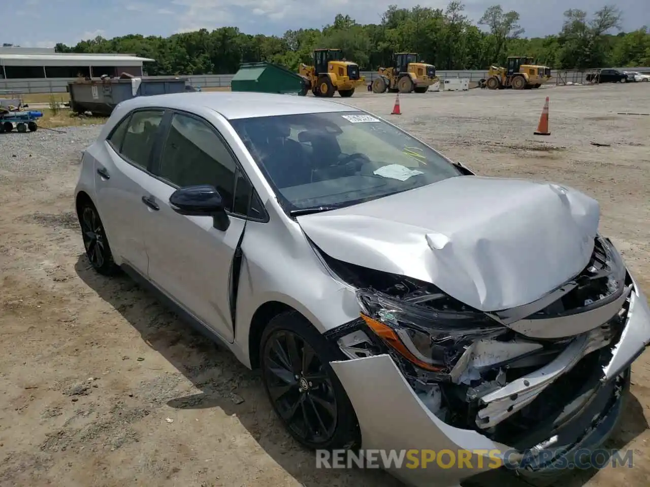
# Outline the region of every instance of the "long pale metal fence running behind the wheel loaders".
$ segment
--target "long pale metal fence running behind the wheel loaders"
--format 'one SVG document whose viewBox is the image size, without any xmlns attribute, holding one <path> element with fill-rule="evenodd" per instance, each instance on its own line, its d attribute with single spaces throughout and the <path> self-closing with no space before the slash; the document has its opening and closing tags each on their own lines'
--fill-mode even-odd
<svg viewBox="0 0 650 487">
<path fill-rule="evenodd" d="M 618 68 L 625 71 L 650 71 L 650 68 Z M 551 71 L 551 77 L 555 78 L 558 71 Z M 582 77 L 584 71 L 566 71 L 562 70 L 562 77 L 565 79 L 577 79 Z M 366 81 L 373 81 L 378 73 L 376 71 L 361 71 L 361 75 Z M 467 78 L 470 82 L 487 77 L 486 71 L 437 71 L 441 79 L 449 78 Z M 196 75 L 182 76 L 187 78 L 192 84 L 199 88 L 227 88 L 234 75 Z M 74 81 L 74 78 L 48 78 L 48 79 L 0 79 L 0 95 L 4 90 L 12 92 L 27 93 L 65 93 L 68 81 Z"/>
</svg>

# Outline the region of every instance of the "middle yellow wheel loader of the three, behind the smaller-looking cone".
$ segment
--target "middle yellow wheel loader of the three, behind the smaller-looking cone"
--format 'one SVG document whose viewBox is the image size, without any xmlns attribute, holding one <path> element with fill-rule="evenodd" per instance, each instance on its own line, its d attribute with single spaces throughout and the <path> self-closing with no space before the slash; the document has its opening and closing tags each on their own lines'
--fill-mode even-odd
<svg viewBox="0 0 650 487">
<path fill-rule="evenodd" d="M 372 82 L 372 92 L 425 93 L 436 81 L 433 64 L 417 62 L 416 53 L 395 53 L 393 66 L 379 68 L 379 77 Z"/>
</svg>

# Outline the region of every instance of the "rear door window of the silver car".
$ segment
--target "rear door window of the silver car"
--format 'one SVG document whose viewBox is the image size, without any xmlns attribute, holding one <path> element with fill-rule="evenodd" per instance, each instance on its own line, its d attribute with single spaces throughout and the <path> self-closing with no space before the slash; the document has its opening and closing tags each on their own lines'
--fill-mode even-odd
<svg viewBox="0 0 650 487">
<path fill-rule="evenodd" d="M 125 131 L 120 154 L 136 166 L 146 169 L 161 121 L 162 110 L 135 112 Z"/>
</svg>

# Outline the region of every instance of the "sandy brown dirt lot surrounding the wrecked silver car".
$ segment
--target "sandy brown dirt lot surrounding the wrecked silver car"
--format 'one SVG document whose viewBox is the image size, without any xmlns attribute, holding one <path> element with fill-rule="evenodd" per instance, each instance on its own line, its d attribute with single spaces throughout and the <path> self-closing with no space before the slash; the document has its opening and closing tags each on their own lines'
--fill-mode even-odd
<svg viewBox="0 0 650 487">
<path fill-rule="evenodd" d="M 552 134 L 536 137 L 547 95 Z M 413 94 L 392 117 L 393 95 L 360 92 L 350 103 L 479 173 L 593 195 L 604 233 L 650 292 L 650 116 L 617 114 L 648 113 L 649 95 L 644 84 Z M 317 471 L 274 418 L 256 373 L 129 279 L 90 270 L 72 192 L 80 151 L 97 133 L 0 136 L 0 485 L 398 486 L 380 471 Z M 563 485 L 647 485 L 650 352 L 633 371 L 608 447 L 633 449 L 634 468 L 581 472 Z"/>
</svg>

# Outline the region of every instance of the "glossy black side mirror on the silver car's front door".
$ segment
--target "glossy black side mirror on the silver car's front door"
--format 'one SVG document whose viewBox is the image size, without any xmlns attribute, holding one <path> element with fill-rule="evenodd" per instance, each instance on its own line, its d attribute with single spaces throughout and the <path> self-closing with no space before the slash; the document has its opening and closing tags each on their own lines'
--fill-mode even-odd
<svg viewBox="0 0 650 487">
<path fill-rule="evenodd" d="M 169 203 L 172 209 L 181 215 L 211 216 L 214 228 L 222 232 L 230 226 L 224 200 L 210 184 L 179 188 L 169 197 Z"/>
</svg>

